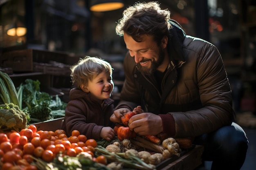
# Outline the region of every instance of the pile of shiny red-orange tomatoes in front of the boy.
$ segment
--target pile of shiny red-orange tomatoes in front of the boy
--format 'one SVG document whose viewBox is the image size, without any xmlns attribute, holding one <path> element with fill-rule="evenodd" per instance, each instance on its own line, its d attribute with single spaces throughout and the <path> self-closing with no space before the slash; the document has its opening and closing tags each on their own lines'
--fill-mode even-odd
<svg viewBox="0 0 256 170">
<path fill-rule="evenodd" d="M 64 130 L 43 131 L 37 130 L 35 125 L 29 125 L 20 132 L 0 133 L 0 166 L 1 170 L 13 170 L 15 166 L 22 166 L 24 170 L 37 170 L 31 164 L 33 157 L 51 162 L 59 152 L 71 157 L 88 152 L 93 161 L 107 164 L 104 156 L 94 157 L 95 147 L 97 141 L 87 139 L 78 130 L 73 130 L 72 135 L 67 137 Z"/>
</svg>

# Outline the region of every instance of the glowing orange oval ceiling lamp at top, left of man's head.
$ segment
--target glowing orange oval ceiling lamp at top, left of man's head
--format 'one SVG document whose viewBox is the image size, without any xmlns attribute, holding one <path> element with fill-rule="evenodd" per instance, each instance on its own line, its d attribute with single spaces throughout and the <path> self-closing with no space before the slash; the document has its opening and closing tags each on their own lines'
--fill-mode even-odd
<svg viewBox="0 0 256 170">
<path fill-rule="evenodd" d="M 124 7 L 120 0 L 92 0 L 90 10 L 94 12 L 112 11 Z"/>
</svg>

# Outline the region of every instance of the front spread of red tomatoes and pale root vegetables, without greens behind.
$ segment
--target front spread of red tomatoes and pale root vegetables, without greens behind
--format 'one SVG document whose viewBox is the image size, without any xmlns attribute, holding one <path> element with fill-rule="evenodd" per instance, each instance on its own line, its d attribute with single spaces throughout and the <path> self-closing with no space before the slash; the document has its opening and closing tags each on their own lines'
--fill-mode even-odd
<svg viewBox="0 0 256 170">
<path fill-rule="evenodd" d="M 158 145 L 148 142 L 149 148 Z M 87 139 L 78 130 L 67 137 L 63 130 L 43 131 L 29 125 L 19 132 L 0 132 L 0 166 L 2 170 L 154 170 L 172 155 L 179 157 L 180 148 L 173 138 L 165 139 L 159 148 L 161 152 L 145 150 L 130 139 Z"/>
</svg>

